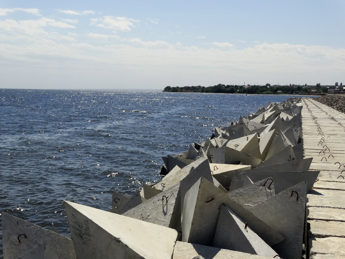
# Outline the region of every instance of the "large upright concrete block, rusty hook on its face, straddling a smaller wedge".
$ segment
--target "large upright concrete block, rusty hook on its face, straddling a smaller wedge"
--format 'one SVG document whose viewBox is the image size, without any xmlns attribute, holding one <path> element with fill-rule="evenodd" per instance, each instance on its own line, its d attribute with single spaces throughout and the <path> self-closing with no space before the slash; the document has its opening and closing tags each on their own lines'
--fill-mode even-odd
<svg viewBox="0 0 345 259">
<path fill-rule="evenodd" d="M 266 243 L 272 245 L 283 239 L 277 231 L 249 213 L 242 205 L 235 202 L 205 178 L 200 178 L 185 196 L 182 241 L 211 246 L 222 203 L 233 210 L 242 220 L 253 222 L 253 230 Z"/>
</svg>

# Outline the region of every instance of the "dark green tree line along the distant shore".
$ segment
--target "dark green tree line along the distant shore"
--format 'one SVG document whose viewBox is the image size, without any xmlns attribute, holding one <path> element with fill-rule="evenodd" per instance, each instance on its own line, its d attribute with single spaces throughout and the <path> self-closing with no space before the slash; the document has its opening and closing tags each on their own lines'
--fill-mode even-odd
<svg viewBox="0 0 345 259">
<path fill-rule="evenodd" d="M 336 83 L 336 86 L 338 84 Z M 342 83 L 340 84 L 342 86 Z M 223 85 L 214 86 L 167 86 L 163 92 L 186 92 L 186 93 L 226 93 L 226 94 L 310 94 L 327 93 L 328 89 L 334 89 L 336 86 L 316 85 Z"/>
</svg>

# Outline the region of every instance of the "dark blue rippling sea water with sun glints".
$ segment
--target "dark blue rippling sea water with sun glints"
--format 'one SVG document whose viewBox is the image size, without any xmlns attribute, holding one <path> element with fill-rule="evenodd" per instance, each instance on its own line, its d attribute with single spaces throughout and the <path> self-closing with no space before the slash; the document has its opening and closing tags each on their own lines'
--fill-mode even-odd
<svg viewBox="0 0 345 259">
<path fill-rule="evenodd" d="M 0 210 L 68 235 L 62 200 L 108 210 L 161 179 L 161 156 L 288 97 L 0 89 Z"/>
</svg>

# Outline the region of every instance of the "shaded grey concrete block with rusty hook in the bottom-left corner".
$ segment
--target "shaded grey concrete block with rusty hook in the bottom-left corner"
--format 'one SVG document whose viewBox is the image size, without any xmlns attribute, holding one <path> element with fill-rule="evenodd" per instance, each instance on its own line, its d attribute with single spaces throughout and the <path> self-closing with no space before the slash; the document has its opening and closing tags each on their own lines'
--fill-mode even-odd
<svg viewBox="0 0 345 259">
<path fill-rule="evenodd" d="M 58 258 L 76 258 L 70 238 L 42 229 L 6 212 L 1 213 L 1 220 L 4 258 L 16 259 L 43 242 L 50 244 Z"/>
</svg>

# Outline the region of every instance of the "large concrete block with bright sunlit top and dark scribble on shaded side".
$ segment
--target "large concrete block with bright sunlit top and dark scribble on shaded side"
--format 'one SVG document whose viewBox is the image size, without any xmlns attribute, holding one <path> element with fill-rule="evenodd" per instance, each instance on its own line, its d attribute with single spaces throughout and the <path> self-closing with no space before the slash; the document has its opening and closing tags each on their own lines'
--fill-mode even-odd
<svg viewBox="0 0 345 259">
<path fill-rule="evenodd" d="M 78 258 L 172 256 L 174 229 L 69 201 L 64 205 Z"/>
</svg>

